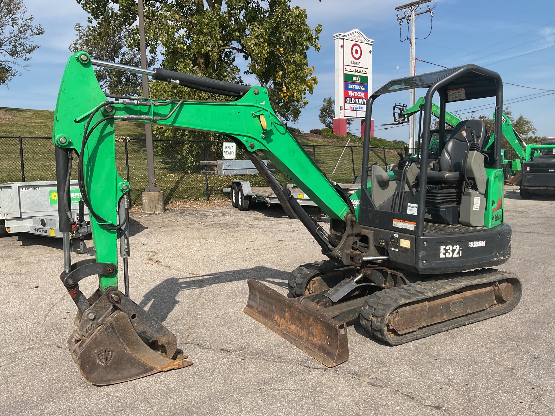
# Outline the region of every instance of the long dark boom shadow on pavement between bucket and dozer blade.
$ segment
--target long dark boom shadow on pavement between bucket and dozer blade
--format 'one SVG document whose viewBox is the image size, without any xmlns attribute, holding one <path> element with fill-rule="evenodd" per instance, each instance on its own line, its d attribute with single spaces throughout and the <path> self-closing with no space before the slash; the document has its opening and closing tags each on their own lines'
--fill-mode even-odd
<svg viewBox="0 0 555 416">
<path fill-rule="evenodd" d="M 168 318 L 170 312 L 173 311 L 175 306 L 179 303 L 176 298 L 179 292 L 219 285 L 220 283 L 241 280 L 246 281 L 251 277 L 254 277 L 260 282 L 272 283 L 273 285 L 287 288 L 289 272 L 265 266 L 256 266 L 242 270 L 209 273 L 200 276 L 170 277 L 145 293 L 143 300 L 139 302 L 139 306 L 146 309 L 147 305 L 150 303 L 147 312 L 152 314 L 152 316 L 160 322 L 164 322 L 165 319 Z M 246 290 L 247 286 L 245 283 L 245 291 Z"/>
</svg>

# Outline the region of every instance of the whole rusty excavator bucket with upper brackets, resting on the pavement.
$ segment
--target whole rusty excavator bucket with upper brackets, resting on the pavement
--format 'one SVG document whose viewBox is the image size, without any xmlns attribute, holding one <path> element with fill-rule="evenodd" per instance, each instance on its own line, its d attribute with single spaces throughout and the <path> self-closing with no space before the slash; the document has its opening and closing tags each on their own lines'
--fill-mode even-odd
<svg viewBox="0 0 555 416">
<path fill-rule="evenodd" d="M 122 383 L 193 364 L 179 355 L 173 333 L 118 290 L 107 290 L 68 339 L 69 351 L 92 384 Z"/>
</svg>

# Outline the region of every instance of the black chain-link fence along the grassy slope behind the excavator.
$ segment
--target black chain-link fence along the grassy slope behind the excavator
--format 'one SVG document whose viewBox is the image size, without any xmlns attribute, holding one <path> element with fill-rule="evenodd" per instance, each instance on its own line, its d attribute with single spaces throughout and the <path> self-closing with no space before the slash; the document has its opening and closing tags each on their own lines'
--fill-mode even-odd
<svg viewBox="0 0 555 416">
<path fill-rule="evenodd" d="M 231 180 L 249 180 L 253 186 L 266 186 L 260 175 L 218 176 L 201 173 L 201 161 L 221 159 L 221 141 L 154 140 L 154 166 L 158 186 L 164 191 L 164 201 L 227 197 L 222 189 Z M 303 145 L 306 153 L 330 179 L 352 182 L 362 166 L 362 146 Z M 395 163 L 398 149 L 371 148 L 370 165 L 382 168 Z M 147 149 L 144 139 L 117 140 L 116 168 L 119 175 L 129 178 L 133 204 L 140 204 L 141 192 L 148 185 Z M 238 149 L 236 159 L 246 159 Z M 264 158 L 263 155 L 261 155 Z M 0 183 L 18 181 L 55 181 L 54 145 L 49 137 L 0 136 Z M 74 166 L 77 161 L 74 161 Z M 270 169 L 282 184 L 292 183 L 276 166 Z M 77 179 L 73 169 L 72 179 Z"/>
</svg>

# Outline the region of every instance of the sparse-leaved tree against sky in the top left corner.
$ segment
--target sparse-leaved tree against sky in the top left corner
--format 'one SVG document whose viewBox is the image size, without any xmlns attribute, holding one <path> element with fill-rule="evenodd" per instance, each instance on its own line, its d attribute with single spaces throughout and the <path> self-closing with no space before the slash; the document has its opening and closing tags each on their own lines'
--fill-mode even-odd
<svg viewBox="0 0 555 416">
<path fill-rule="evenodd" d="M 26 69 L 39 45 L 33 38 L 42 35 L 40 24 L 33 24 L 22 0 L 0 0 L 0 85 L 7 85 Z"/>
</svg>

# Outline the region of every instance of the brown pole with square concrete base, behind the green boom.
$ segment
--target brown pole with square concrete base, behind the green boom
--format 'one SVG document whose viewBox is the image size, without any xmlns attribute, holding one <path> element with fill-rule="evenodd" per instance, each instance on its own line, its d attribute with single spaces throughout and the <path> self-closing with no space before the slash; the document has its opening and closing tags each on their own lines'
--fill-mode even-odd
<svg viewBox="0 0 555 416">
<path fill-rule="evenodd" d="M 140 65 L 143 69 L 147 69 L 147 44 L 144 36 L 144 11 L 143 0 L 138 0 L 139 8 L 139 44 L 140 44 Z M 148 76 L 143 74 L 143 97 L 148 98 Z M 148 186 L 145 186 L 143 192 L 143 212 L 164 212 L 164 192 L 156 183 L 154 174 L 154 149 L 152 144 L 152 126 L 149 123 L 144 125 L 144 135 L 147 146 L 147 173 Z"/>
</svg>

